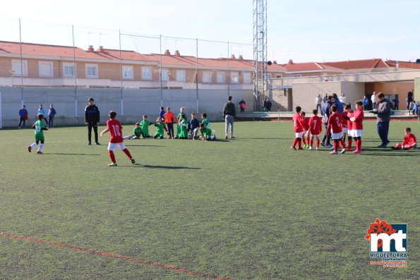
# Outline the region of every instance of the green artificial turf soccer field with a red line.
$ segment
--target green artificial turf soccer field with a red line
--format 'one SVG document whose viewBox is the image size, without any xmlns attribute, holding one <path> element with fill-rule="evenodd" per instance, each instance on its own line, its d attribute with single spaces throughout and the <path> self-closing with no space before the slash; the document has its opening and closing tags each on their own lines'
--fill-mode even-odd
<svg viewBox="0 0 420 280">
<path fill-rule="evenodd" d="M 235 140 L 126 140 L 137 164 L 116 151 L 116 167 L 109 133 L 54 128 L 36 154 L 33 130 L 0 130 L 0 279 L 420 279 L 420 150 L 364 126 L 361 154 L 237 122 Z M 407 126 L 420 137 L 392 122 L 392 145 Z M 369 264 L 376 218 L 407 224 L 407 268 Z"/>
</svg>

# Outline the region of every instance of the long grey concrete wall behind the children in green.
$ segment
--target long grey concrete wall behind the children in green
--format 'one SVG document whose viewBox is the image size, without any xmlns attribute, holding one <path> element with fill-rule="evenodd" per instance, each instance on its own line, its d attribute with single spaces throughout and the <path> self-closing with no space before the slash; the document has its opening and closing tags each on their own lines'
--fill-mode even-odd
<svg viewBox="0 0 420 280">
<path fill-rule="evenodd" d="M 18 87 L 0 87 L 1 120 L 4 127 L 17 126 L 18 111 L 21 108 L 22 92 Z M 230 90 L 236 109 L 239 111 L 239 101 L 244 98 L 246 111 L 253 110 L 253 93 L 251 90 Z M 23 103 L 26 105 L 30 123 L 37 114 L 40 103 L 45 111 L 49 104 L 54 104 L 57 111 L 56 125 L 75 125 L 84 123 L 84 110 L 88 98 L 93 97 L 101 112 L 101 122 L 107 120 L 108 112 L 117 111 L 120 121 L 135 123 L 141 120 L 143 114 L 155 121 L 159 114 L 160 90 L 123 90 L 124 116 L 121 116 L 121 90 L 118 89 L 77 89 L 73 88 L 23 88 Z M 186 113 L 196 113 L 196 90 L 162 90 L 163 106 L 170 106 L 175 113 L 181 106 L 186 107 Z M 227 101 L 227 90 L 198 90 L 198 112 L 207 113 L 212 121 L 222 121 L 223 105 Z M 77 99 L 77 117 L 76 102 Z"/>
</svg>

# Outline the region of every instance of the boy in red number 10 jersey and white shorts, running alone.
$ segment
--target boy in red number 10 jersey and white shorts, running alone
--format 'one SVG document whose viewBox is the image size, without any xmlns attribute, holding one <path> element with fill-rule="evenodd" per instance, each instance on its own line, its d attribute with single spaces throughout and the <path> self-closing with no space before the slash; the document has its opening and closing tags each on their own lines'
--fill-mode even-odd
<svg viewBox="0 0 420 280">
<path fill-rule="evenodd" d="M 109 140 L 108 144 L 108 154 L 111 158 L 112 163 L 108 164 L 108 166 L 116 166 L 115 161 L 115 155 L 114 150 L 119 149 L 126 153 L 128 159 L 131 160 L 132 164 L 135 164 L 136 161 L 131 157 L 130 152 L 126 148 L 126 145 L 124 145 L 124 139 L 122 134 L 123 127 L 121 126 L 121 123 L 116 120 L 116 112 L 110 111 L 109 112 L 109 120 L 107 121 L 107 129 L 102 130 L 101 136 L 104 135 L 104 133 L 111 133 L 111 139 Z"/>
</svg>

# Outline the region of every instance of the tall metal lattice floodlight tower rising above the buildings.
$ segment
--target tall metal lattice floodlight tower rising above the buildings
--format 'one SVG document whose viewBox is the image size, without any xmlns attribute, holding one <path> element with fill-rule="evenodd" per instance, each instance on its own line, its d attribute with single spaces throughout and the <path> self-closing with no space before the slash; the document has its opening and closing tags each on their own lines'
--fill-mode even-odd
<svg viewBox="0 0 420 280">
<path fill-rule="evenodd" d="M 267 0 L 253 0 L 253 96 L 254 110 L 267 95 Z"/>
</svg>

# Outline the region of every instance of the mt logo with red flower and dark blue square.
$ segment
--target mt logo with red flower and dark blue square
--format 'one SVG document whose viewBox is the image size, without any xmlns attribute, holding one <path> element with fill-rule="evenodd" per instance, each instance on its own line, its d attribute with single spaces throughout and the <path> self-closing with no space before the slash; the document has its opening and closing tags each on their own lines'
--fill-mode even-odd
<svg viewBox="0 0 420 280">
<path fill-rule="evenodd" d="M 407 224 L 387 224 L 376 219 L 366 232 L 371 252 L 407 252 Z"/>
</svg>

